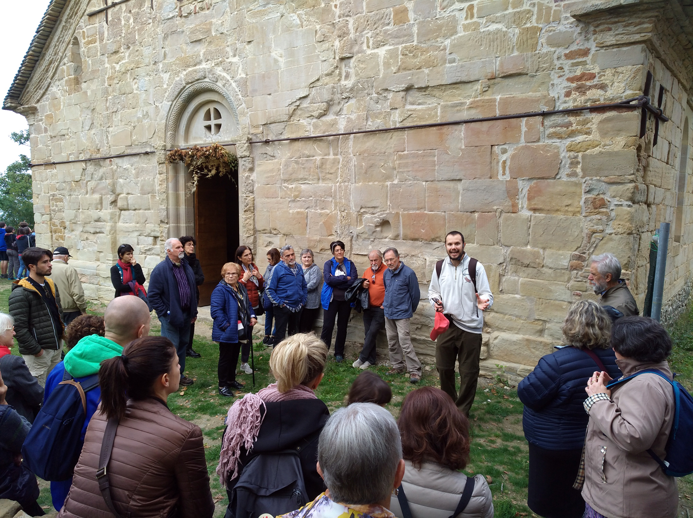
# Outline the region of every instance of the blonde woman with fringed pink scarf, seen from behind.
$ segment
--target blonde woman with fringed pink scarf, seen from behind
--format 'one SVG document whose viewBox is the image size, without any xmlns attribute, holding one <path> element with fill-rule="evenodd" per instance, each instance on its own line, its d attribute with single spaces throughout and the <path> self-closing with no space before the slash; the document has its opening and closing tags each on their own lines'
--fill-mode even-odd
<svg viewBox="0 0 693 518">
<path fill-rule="evenodd" d="M 294 334 L 275 346 L 270 369 L 277 383 L 246 394 L 229 409 L 217 474 L 231 501 L 248 459 L 253 455 L 296 449 L 308 498 L 325 490 L 317 473 L 317 443 L 330 413 L 315 389 L 322 381 L 327 348 L 315 334 Z M 233 513 L 235 510 L 231 510 Z"/>
</svg>

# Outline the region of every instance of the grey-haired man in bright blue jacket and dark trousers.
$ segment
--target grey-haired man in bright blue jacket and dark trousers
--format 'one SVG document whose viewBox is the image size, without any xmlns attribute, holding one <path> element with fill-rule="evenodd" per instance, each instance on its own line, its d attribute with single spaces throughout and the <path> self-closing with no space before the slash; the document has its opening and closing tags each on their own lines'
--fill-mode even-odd
<svg viewBox="0 0 693 518">
<path fill-rule="evenodd" d="M 151 288 L 150 288 L 151 289 Z M 296 264 L 296 252 L 289 244 L 281 249 L 281 261 L 272 270 L 267 296 L 274 305 L 274 345 L 281 342 L 289 328 L 289 336 L 299 329 L 301 310 L 308 300 L 308 285 L 303 268 Z"/>
</svg>

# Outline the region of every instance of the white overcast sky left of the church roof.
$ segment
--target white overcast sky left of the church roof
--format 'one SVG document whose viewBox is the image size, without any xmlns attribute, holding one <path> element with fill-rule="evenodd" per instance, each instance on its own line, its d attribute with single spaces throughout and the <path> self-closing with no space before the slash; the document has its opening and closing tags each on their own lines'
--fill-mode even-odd
<svg viewBox="0 0 693 518">
<path fill-rule="evenodd" d="M 48 4 L 49 0 L 24 0 L 0 16 L 0 102 L 10 89 Z M 14 111 L 0 110 L 0 172 L 17 160 L 20 153 L 28 156 L 28 146 L 10 140 L 10 133 L 27 127 L 23 116 Z"/>
</svg>

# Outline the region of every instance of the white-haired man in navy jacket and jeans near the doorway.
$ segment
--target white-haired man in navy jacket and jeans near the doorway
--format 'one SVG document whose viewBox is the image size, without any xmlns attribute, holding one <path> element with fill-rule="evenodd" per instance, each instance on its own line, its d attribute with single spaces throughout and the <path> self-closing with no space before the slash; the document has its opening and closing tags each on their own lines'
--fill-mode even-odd
<svg viewBox="0 0 693 518">
<path fill-rule="evenodd" d="M 198 319 L 198 300 L 195 298 L 195 274 L 188 265 L 183 245 L 175 238 L 164 243 L 166 259 L 159 262 L 149 277 L 147 298 L 161 322 L 161 336 L 173 342 L 180 364 L 180 384 L 192 385 L 185 375 L 185 353 L 190 339 L 190 325 Z"/>
</svg>

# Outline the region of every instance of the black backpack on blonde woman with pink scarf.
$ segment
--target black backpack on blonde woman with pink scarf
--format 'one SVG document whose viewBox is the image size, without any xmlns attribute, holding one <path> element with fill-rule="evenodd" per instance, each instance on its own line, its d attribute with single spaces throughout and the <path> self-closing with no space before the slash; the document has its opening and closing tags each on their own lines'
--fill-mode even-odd
<svg viewBox="0 0 693 518">
<path fill-rule="evenodd" d="M 308 503 L 301 459 L 295 449 L 252 456 L 231 490 L 225 518 L 279 516 Z"/>
</svg>

